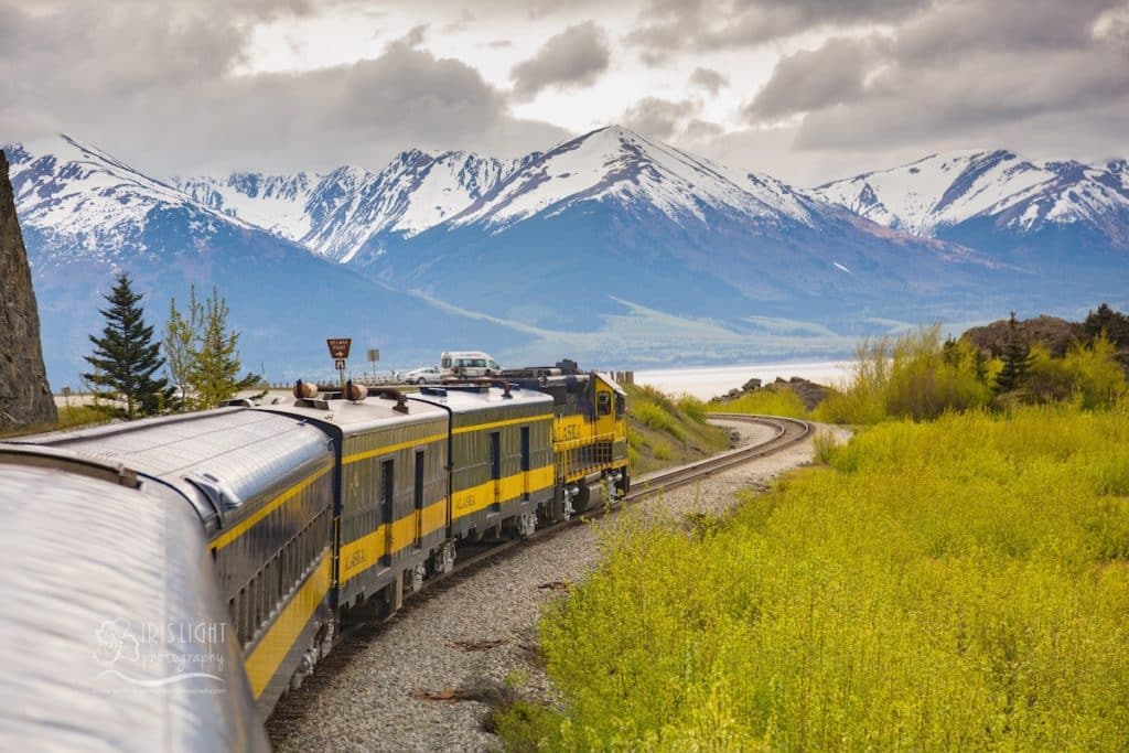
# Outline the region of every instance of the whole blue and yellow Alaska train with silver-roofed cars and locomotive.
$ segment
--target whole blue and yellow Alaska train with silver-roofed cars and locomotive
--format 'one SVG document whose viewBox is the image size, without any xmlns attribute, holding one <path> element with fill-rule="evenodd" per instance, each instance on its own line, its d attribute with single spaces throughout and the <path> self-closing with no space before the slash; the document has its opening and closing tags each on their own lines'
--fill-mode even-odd
<svg viewBox="0 0 1129 753">
<path fill-rule="evenodd" d="M 343 620 L 630 489 L 627 395 L 572 361 L 294 394 L 0 443 L 0 739 L 266 750 Z"/>
</svg>

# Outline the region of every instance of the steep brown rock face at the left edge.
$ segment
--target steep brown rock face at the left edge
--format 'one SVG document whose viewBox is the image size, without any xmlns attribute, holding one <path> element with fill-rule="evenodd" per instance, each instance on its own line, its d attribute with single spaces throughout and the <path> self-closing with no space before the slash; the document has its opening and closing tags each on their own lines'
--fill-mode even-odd
<svg viewBox="0 0 1129 753">
<path fill-rule="evenodd" d="M 0 432 L 46 427 L 58 420 L 43 367 L 40 312 L 24 236 L 0 151 Z"/>
</svg>

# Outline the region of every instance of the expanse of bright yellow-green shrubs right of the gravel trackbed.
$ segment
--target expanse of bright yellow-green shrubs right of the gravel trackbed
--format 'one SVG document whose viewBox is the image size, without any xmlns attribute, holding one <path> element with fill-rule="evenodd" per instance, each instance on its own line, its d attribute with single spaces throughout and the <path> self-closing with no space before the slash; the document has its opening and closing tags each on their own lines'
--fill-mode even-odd
<svg viewBox="0 0 1129 753">
<path fill-rule="evenodd" d="M 1129 404 L 891 421 L 828 455 L 717 525 L 616 526 L 540 625 L 564 711 L 507 739 L 1129 746 Z"/>
</svg>

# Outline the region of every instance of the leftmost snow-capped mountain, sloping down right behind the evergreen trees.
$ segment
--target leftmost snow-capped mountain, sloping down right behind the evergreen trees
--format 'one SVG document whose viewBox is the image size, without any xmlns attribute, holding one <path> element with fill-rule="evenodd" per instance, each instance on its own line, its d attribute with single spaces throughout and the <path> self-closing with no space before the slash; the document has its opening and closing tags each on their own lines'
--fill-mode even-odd
<svg viewBox="0 0 1129 753">
<path fill-rule="evenodd" d="M 203 186 L 196 186 L 203 199 L 196 201 L 76 139 L 12 145 L 5 151 L 52 384 L 78 386 L 87 335 L 102 325 L 99 291 L 108 290 L 122 269 L 146 295 L 147 318 L 158 332 L 169 299 L 183 305 L 190 284 L 204 295 L 217 286 L 229 301 L 229 323 L 243 332 L 244 364 L 248 369 L 270 364 L 275 378 L 327 370 L 321 343 L 342 329 L 392 357 L 423 362 L 435 358 L 432 343 L 449 332 L 499 344 L 528 340 L 322 260 L 220 211 Z M 305 192 L 310 217 L 318 216 L 318 205 L 334 203 L 325 186 L 310 190 L 308 178 L 304 184 L 300 177 L 244 176 L 238 187 L 268 194 L 275 207 Z"/>
</svg>

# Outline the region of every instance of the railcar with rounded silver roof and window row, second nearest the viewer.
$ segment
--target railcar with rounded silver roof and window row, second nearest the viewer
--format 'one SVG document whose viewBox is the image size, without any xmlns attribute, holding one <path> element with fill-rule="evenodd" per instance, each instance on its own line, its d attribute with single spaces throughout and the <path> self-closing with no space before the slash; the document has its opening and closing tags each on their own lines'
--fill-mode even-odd
<svg viewBox="0 0 1129 753">
<path fill-rule="evenodd" d="M 323 431 L 219 409 L 20 441 L 120 464 L 196 509 L 264 717 L 329 650 L 336 464 Z"/>
</svg>

